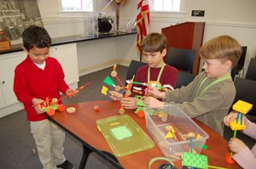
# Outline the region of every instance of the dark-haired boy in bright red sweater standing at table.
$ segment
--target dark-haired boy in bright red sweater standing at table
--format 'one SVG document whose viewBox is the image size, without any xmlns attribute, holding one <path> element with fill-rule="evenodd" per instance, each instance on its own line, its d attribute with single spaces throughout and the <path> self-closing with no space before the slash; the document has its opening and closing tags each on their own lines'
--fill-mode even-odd
<svg viewBox="0 0 256 169">
<path fill-rule="evenodd" d="M 60 92 L 73 96 L 78 91 L 67 86 L 61 65 L 49 57 L 51 38 L 44 28 L 31 25 L 22 33 L 22 40 L 27 57 L 16 66 L 14 91 L 24 104 L 39 160 L 44 169 L 73 169 L 73 164 L 66 161 L 63 154 L 65 132 L 47 120 L 39 103 L 46 97 L 60 99 Z M 38 105 L 33 107 L 34 104 Z"/>
</svg>

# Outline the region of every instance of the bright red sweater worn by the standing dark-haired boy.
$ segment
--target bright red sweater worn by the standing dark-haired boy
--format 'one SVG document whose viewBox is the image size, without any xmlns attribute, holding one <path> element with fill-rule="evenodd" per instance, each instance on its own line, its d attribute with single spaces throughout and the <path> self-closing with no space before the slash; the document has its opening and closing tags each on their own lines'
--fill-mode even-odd
<svg viewBox="0 0 256 169">
<path fill-rule="evenodd" d="M 45 60 L 44 70 L 38 68 L 29 55 L 15 69 L 14 91 L 17 99 L 24 104 L 27 121 L 41 121 L 46 116 L 38 115 L 32 107 L 32 99 L 60 99 L 61 93 L 66 93 L 67 83 L 64 81 L 64 72 L 59 62 L 49 57 Z"/>
</svg>

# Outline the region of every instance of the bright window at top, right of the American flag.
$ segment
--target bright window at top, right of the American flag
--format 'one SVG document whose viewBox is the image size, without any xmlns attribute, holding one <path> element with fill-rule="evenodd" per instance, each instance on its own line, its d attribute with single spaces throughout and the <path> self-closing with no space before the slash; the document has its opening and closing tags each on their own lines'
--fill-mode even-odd
<svg viewBox="0 0 256 169">
<path fill-rule="evenodd" d="M 149 0 L 152 12 L 180 12 L 181 0 Z"/>
</svg>

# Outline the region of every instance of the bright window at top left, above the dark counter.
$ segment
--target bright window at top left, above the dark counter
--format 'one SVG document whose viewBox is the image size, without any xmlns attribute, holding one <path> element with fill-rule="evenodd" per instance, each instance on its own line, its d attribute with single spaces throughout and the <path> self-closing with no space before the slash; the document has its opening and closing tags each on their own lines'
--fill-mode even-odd
<svg viewBox="0 0 256 169">
<path fill-rule="evenodd" d="M 93 0 L 61 0 L 62 12 L 91 12 Z"/>
</svg>

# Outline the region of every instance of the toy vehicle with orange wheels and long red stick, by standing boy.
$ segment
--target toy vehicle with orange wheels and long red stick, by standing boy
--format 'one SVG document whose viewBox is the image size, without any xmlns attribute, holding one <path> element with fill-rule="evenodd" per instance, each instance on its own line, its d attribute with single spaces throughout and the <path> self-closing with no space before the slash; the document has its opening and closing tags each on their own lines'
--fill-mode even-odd
<svg viewBox="0 0 256 169">
<path fill-rule="evenodd" d="M 76 90 L 82 90 L 84 87 L 90 85 L 90 83 L 92 82 L 88 82 L 87 84 L 85 84 L 84 86 L 81 86 L 79 88 L 77 88 Z M 33 104 L 32 107 L 35 107 L 37 105 L 40 104 L 41 108 L 48 114 L 48 115 L 54 115 L 55 114 L 55 110 L 59 110 L 59 111 L 64 111 L 66 109 L 66 106 L 64 104 L 58 104 L 59 101 L 61 101 L 62 99 L 66 99 L 69 96 L 72 96 L 73 93 L 67 94 L 66 96 L 62 97 L 61 99 L 49 99 L 48 97 L 43 101 L 40 102 L 38 104 Z"/>
</svg>

